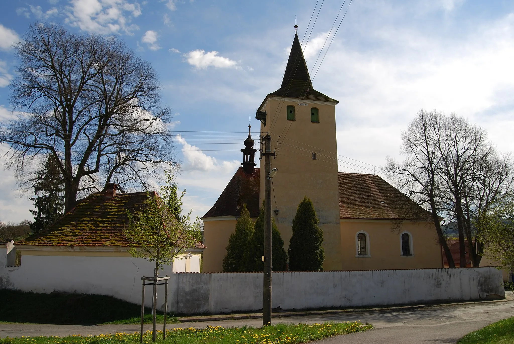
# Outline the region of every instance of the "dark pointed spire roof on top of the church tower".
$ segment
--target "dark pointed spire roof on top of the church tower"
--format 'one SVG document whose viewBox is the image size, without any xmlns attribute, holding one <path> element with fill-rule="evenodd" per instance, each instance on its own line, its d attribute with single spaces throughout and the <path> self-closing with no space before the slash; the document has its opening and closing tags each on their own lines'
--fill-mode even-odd
<svg viewBox="0 0 514 344">
<path fill-rule="evenodd" d="M 282 85 L 278 90 L 266 96 L 287 97 L 287 98 L 302 98 L 306 101 L 317 100 L 325 102 L 338 102 L 321 92 L 314 89 L 313 83 L 310 81 L 309 70 L 303 57 L 302 46 L 298 39 L 298 34 L 295 34 L 295 39 L 292 42 L 291 52 L 287 60 L 284 78 Z M 264 102 L 266 101 L 264 99 Z M 261 108 L 262 105 L 259 107 Z"/>
</svg>

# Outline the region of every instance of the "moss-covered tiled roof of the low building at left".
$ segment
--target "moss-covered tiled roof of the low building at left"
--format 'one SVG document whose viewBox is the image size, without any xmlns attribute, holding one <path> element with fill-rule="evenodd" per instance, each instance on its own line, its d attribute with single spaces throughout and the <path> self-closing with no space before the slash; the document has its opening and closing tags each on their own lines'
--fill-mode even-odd
<svg viewBox="0 0 514 344">
<path fill-rule="evenodd" d="M 137 211 L 148 200 L 148 192 L 116 194 L 105 197 L 96 192 L 80 200 L 53 226 L 17 242 L 38 246 L 129 246 L 123 233 L 128 223 L 126 211 Z M 205 248 L 199 242 L 196 248 Z"/>
</svg>

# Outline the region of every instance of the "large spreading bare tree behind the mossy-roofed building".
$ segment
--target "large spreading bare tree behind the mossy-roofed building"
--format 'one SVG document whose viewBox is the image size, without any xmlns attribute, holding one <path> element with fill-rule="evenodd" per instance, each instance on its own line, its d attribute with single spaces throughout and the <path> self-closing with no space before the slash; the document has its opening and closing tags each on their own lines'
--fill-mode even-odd
<svg viewBox="0 0 514 344">
<path fill-rule="evenodd" d="M 64 178 L 65 212 L 78 194 L 115 179 L 145 187 L 174 166 L 157 76 L 148 62 L 113 37 L 78 35 L 34 24 L 15 45 L 21 64 L 11 101 L 22 112 L 0 132 L 9 166 L 27 180 L 40 154 L 52 154 Z"/>
</svg>

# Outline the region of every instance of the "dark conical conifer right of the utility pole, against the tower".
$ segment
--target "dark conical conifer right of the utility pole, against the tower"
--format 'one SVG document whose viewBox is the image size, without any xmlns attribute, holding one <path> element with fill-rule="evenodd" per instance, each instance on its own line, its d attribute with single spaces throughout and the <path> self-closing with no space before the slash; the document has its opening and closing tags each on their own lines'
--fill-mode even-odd
<svg viewBox="0 0 514 344">
<path fill-rule="evenodd" d="M 298 205 L 295 219 L 292 221 L 292 236 L 287 249 L 289 270 L 323 270 L 323 231 L 318 227 L 318 223 L 313 202 L 305 196 Z"/>
</svg>

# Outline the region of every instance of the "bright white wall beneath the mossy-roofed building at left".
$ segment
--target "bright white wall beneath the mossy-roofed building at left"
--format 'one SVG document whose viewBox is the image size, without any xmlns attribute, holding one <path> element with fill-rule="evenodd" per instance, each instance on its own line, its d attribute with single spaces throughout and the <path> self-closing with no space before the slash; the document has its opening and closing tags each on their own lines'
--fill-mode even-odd
<svg viewBox="0 0 514 344">
<path fill-rule="evenodd" d="M 0 288 L 24 292 L 68 292 L 110 295 L 141 304 L 141 277 L 153 276 L 154 264 L 132 257 L 23 256 L 21 266 L 6 267 L 0 252 Z M 172 275 L 164 266 L 160 275 Z M 151 306 L 151 286 L 146 287 L 145 305 Z M 162 292 L 160 301 L 164 300 Z"/>
</svg>

